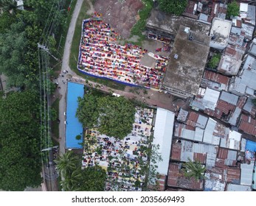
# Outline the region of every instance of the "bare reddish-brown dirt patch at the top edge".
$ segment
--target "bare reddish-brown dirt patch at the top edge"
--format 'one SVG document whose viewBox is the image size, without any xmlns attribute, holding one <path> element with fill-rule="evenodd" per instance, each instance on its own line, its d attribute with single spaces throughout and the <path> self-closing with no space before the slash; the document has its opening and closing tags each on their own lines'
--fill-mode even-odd
<svg viewBox="0 0 256 206">
<path fill-rule="evenodd" d="M 103 21 L 110 24 L 121 38 L 130 37 L 142 7 L 139 0 L 96 0 L 94 3 L 94 10 L 103 15 Z"/>
</svg>

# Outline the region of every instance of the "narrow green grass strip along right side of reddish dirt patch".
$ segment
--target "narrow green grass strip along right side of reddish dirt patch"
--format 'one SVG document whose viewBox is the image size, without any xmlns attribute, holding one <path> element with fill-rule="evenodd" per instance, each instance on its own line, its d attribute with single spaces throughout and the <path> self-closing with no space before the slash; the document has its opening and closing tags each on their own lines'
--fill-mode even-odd
<svg viewBox="0 0 256 206">
<path fill-rule="evenodd" d="M 139 11 L 139 21 L 137 21 L 136 24 L 134 24 L 134 26 L 131 28 L 131 37 L 133 35 L 139 36 L 139 40 L 135 42 L 139 46 L 142 46 L 142 41 L 145 40 L 145 35 L 143 35 L 142 32 L 145 32 L 146 21 L 153 8 L 152 0 L 142 0 L 142 2 L 144 7 Z"/>
</svg>

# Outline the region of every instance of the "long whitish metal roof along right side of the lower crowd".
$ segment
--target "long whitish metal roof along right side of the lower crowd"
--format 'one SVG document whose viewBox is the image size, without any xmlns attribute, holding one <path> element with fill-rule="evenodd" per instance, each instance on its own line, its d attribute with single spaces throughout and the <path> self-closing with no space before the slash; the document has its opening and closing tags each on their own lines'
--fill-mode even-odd
<svg viewBox="0 0 256 206">
<path fill-rule="evenodd" d="M 174 118 L 174 113 L 159 107 L 157 108 L 153 144 L 159 145 L 158 152 L 162 156 L 162 161 L 155 164 L 157 166 L 156 171 L 159 174 L 167 175 L 168 173 Z"/>
</svg>

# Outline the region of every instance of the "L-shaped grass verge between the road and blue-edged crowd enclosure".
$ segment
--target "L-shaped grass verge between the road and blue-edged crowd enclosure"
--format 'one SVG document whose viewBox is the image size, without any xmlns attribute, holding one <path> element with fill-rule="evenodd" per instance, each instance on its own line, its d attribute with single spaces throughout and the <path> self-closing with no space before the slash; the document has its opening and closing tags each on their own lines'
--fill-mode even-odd
<svg viewBox="0 0 256 206">
<path fill-rule="evenodd" d="M 75 32 L 72 39 L 71 52 L 69 57 L 69 66 L 77 75 L 82 77 L 83 79 L 88 79 L 91 82 L 97 82 L 100 85 L 106 85 L 109 88 L 113 88 L 116 90 L 125 90 L 125 85 L 114 82 L 110 79 L 101 79 L 97 77 L 90 77 L 89 75 L 82 74 L 77 70 L 77 58 L 79 54 L 79 46 L 80 46 L 80 38 L 82 32 L 82 23 L 83 19 L 90 18 L 89 15 L 86 14 L 89 8 L 89 4 L 86 1 L 83 1 L 82 7 L 80 8 L 80 13 L 77 18 L 77 22 L 75 25 Z"/>
</svg>

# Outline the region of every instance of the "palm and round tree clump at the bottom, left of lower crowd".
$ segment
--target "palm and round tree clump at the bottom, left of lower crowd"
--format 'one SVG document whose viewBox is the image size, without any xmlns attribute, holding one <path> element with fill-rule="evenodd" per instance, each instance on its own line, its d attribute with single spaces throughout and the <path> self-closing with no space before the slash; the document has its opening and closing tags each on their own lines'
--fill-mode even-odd
<svg viewBox="0 0 256 206">
<path fill-rule="evenodd" d="M 81 168 L 79 157 L 72 151 L 66 152 L 55 160 L 63 174 L 63 191 L 103 191 L 106 171 L 100 166 Z"/>
</svg>

